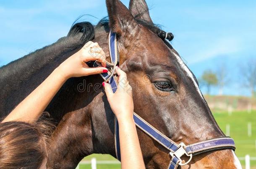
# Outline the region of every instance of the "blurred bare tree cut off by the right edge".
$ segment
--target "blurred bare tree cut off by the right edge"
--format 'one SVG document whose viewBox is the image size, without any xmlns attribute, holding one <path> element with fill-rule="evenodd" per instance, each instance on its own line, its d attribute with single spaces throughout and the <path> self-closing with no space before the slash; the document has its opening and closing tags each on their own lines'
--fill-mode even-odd
<svg viewBox="0 0 256 169">
<path fill-rule="evenodd" d="M 256 96 L 256 59 L 251 58 L 245 64 L 241 65 L 240 73 L 242 83 L 251 91 L 251 96 Z"/>
</svg>

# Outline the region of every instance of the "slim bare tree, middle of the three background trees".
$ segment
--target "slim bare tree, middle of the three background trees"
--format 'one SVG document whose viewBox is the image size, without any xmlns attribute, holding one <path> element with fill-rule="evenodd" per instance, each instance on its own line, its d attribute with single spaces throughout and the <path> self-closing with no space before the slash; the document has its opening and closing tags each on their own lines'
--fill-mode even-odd
<svg viewBox="0 0 256 169">
<path fill-rule="evenodd" d="M 219 66 L 217 67 L 216 75 L 217 75 L 217 79 L 218 79 L 219 95 L 222 95 L 223 88 L 228 82 L 227 65 L 225 63 L 219 64 Z"/>
</svg>

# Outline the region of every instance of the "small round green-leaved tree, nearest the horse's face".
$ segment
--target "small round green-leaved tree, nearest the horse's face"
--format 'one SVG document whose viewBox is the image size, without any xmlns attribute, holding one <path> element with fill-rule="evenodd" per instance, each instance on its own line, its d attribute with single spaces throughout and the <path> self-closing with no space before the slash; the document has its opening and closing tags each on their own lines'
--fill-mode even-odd
<svg viewBox="0 0 256 169">
<path fill-rule="evenodd" d="M 204 71 L 201 77 L 201 83 L 204 83 L 207 88 L 207 94 L 210 94 L 211 87 L 218 84 L 218 78 L 216 73 L 213 73 L 211 70 Z"/>
</svg>

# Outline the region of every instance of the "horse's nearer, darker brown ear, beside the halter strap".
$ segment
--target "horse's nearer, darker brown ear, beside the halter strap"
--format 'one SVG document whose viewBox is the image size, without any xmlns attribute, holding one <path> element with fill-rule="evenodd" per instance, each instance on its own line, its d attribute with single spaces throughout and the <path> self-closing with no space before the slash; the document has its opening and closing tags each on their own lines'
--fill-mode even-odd
<svg viewBox="0 0 256 169">
<path fill-rule="evenodd" d="M 138 27 L 138 23 L 133 18 L 130 10 L 120 0 L 106 0 L 106 4 L 110 28 L 120 35 L 126 31 L 135 33 L 134 29 Z"/>
</svg>

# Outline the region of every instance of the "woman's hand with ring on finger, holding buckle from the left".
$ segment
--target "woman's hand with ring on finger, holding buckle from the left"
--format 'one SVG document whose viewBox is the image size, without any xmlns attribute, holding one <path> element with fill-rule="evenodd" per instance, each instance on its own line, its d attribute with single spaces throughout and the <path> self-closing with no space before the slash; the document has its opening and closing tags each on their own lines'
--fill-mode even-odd
<svg viewBox="0 0 256 169">
<path fill-rule="evenodd" d="M 88 61 L 99 61 L 103 67 L 89 68 Z M 73 54 L 57 68 L 64 78 L 88 76 L 99 73 L 107 73 L 106 55 L 98 43 L 89 41 L 81 50 Z"/>
</svg>

